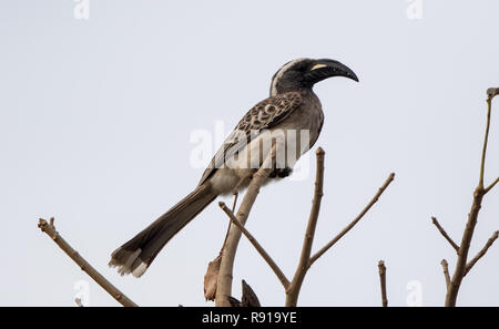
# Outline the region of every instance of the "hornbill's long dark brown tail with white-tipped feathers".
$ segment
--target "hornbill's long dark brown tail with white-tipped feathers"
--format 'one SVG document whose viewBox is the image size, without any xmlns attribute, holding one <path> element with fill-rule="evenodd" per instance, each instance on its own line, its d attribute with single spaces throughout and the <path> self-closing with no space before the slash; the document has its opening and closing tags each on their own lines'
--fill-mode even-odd
<svg viewBox="0 0 499 329">
<path fill-rule="evenodd" d="M 142 276 L 164 245 L 216 197 L 208 184 L 196 187 L 173 208 L 114 250 L 109 266 L 121 275 Z"/>
</svg>

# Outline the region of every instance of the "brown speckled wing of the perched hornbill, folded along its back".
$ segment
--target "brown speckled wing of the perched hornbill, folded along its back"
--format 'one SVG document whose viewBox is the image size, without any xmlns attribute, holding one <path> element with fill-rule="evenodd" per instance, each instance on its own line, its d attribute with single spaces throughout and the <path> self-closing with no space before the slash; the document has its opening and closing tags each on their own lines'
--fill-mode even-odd
<svg viewBox="0 0 499 329">
<path fill-rule="evenodd" d="M 208 167 L 204 171 L 200 184 L 206 182 L 217 168 L 222 167 L 225 158 L 237 154 L 253 138 L 258 136 L 259 132 L 273 127 L 289 115 L 302 104 L 302 95 L 298 92 L 288 92 L 263 100 L 253 106 L 218 148 Z"/>
</svg>

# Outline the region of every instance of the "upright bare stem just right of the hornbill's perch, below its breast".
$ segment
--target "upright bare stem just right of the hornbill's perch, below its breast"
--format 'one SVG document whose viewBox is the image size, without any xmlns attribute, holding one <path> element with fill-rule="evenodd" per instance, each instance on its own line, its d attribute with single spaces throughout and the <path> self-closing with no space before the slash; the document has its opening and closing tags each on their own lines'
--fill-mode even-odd
<svg viewBox="0 0 499 329">
<path fill-rule="evenodd" d="M 296 268 L 295 276 L 289 285 L 289 289 L 286 291 L 286 306 L 296 306 L 298 301 L 299 290 L 302 288 L 303 280 L 309 268 L 309 259 L 312 253 L 312 244 L 314 241 L 315 227 L 317 225 L 318 214 L 320 210 L 320 201 L 324 192 L 324 150 L 317 148 L 315 152 L 317 160 L 317 168 L 315 175 L 315 188 L 314 198 L 312 201 L 310 215 L 308 217 L 308 224 L 305 232 L 305 238 L 302 247 L 302 255 L 299 257 L 299 264 Z"/>
</svg>

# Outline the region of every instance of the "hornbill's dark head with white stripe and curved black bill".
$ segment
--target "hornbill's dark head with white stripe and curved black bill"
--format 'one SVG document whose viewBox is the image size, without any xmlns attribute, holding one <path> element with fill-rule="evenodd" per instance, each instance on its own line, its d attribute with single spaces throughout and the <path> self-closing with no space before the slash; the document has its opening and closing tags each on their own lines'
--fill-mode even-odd
<svg viewBox="0 0 499 329">
<path fill-rule="evenodd" d="M 345 76 L 358 82 L 357 75 L 338 61 L 297 59 L 284 64 L 272 78 L 271 96 L 314 86 L 332 76 Z"/>
</svg>

